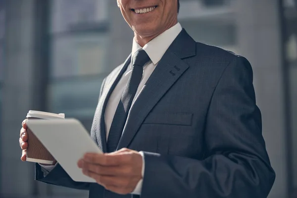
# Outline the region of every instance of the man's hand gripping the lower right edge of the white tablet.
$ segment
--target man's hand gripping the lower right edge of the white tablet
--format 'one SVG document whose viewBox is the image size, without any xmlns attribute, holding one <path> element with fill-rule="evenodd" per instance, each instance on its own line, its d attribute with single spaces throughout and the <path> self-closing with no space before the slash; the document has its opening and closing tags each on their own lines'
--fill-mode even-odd
<svg viewBox="0 0 297 198">
<path fill-rule="evenodd" d="M 143 159 L 139 152 L 123 148 L 112 153 L 86 153 L 78 161 L 83 173 L 106 190 L 117 194 L 132 193 L 142 179 Z"/>
</svg>

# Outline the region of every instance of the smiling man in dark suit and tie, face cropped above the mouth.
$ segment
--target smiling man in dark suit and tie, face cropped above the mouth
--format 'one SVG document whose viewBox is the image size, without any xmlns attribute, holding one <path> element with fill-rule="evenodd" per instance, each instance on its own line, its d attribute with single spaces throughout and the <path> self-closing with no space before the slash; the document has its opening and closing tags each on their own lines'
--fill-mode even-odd
<svg viewBox="0 0 297 198">
<path fill-rule="evenodd" d="M 58 162 L 36 164 L 36 180 L 90 198 L 266 198 L 275 173 L 247 59 L 196 43 L 178 0 L 117 3 L 135 37 L 101 86 L 91 137 L 105 154 L 78 162 L 97 183 L 74 182 Z"/>
</svg>

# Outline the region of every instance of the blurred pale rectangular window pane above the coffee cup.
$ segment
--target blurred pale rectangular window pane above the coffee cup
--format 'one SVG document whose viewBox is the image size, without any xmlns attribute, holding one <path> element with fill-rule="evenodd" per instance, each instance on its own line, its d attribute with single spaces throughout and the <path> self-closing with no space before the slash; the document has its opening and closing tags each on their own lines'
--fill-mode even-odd
<svg viewBox="0 0 297 198">
<path fill-rule="evenodd" d="M 106 34 L 74 34 L 52 38 L 52 78 L 96 75 L 106 67 Z"/>
</svg>

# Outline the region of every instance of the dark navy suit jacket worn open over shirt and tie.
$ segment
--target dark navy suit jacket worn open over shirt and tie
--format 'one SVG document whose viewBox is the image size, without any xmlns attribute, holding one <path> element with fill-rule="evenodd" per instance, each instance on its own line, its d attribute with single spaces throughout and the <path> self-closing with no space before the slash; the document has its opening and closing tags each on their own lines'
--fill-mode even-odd
<svg viewBox="0 0 297 198">
<path fill-rule="evenodd" d="M 130 59 L 101 87 L 91 136 L 103 151 L 106 103 Z M 261 130 L 247 59 L 183 30 L 132 106 L 118 149 L 145 151 L 141 198 L 266 198 L 275 173 Z M 37 165 L 36 179 L 90 198 L 131 198 L 74 182 L 59 165 L 47 175 Z"/>
</svg>

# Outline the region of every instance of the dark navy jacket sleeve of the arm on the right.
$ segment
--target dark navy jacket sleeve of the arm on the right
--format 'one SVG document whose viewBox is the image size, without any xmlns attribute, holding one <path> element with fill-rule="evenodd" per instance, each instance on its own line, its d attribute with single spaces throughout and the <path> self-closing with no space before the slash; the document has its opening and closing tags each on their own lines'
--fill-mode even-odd
<svg viewBox="0 0 297 198">
<path fill-rule="evenodd" d="M 267 198 L 275 173 L 246 58 L 234 58 L 222 73 L 204 133 L 202 160 L 144 152 L 141 198 Z"/>
</svg>

